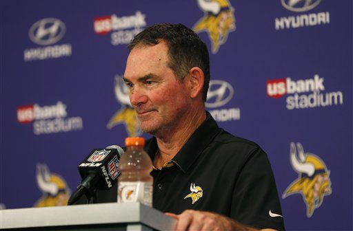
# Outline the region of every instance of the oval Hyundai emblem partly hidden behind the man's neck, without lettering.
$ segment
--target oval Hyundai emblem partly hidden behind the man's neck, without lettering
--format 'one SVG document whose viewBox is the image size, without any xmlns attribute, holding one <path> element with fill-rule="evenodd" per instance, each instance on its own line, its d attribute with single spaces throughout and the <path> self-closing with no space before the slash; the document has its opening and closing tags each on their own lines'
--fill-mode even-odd
<svg viewBox="0 0 353 231">
<path fill-rule="evenodd" d="M 211 80 L 207 93 L 206 107 L 221 107 L 229 102 L 234 94 L 232 85 L 223 80 Z"/>
</svg>

